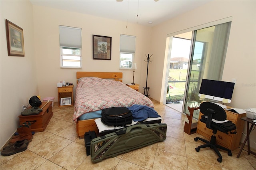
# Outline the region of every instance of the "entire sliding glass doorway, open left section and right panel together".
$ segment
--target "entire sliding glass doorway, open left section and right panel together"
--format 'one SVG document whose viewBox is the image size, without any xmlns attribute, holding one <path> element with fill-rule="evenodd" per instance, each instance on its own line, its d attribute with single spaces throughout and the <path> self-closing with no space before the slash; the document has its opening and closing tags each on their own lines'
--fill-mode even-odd
<svg viewBox="0 0 256 170">
<path fill-rule="evenodd" d="M 177 106 L 177 103 L 173 100 L 177 98 L 177 94 L 174 92 L 177 90 L 182 91 L 178 89 L 178 87 L 180 87 L 178 85 L 184 82 L 184 96 L 179 103 L 179 105 L 181 105 L 180 109 L 176 110 L 190 114 L 188 107 L 198 107 L 201 103 L 198 93 L 202 79 L 222 79 L 230 24 L 231 22 L 225 22 L 224 24 L 177 34 L 172 36 L 172 38 L 169 38 L 170 50 L 168 56 L 170 59 L 168 59 L 168 61 L 170 61 L 170 63 L 168 63 L 166 74 L 168 75 L 168 79 L 166 79 L 166 84 L 168 86 L 166 105 L 172 107 L 175 104 Z M 183 43 L 180 44 L 181 47 L 176 47 L 174 45 L 174 40 L 177 38 L 183 41 Z M 190 45 L 186 45 L 186 43 L 184 43 L 185 41 L 189 41 Z M 182 52 L 178 52 L 178 56 L 182 56 L 182 58 L 187 58 L 188 60 L 174 60 L 172 58 L 172 54 L 176 51 L 174 48 L 182 49 L 180 50 Z M 183 51 L 187 48 L 190 48 L 189 55 L 184 55 Z M 180 73 L 178 78 L 175 78 L 175 74 L 172 73 L 172 71 L 174 73 Z M 180 79 L 181 73 L 183 72 L 187 73 L 186 78 Z M 168 99 L 170 99 L 169 102 Z M 193 117 L 198 119 L 198 113 L 198 111 L 195 111 Z"/>
</svg>

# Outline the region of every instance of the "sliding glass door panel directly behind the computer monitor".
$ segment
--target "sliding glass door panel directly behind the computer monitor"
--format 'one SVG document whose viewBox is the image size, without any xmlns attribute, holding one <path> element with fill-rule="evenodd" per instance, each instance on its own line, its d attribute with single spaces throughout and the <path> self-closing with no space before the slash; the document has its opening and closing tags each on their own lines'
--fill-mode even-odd
<svg viewBox="0 0 256 170">
<path fill-rule="evenodd" d="M 202 79 L 221 80 L 224 67 L 230 22 L 194 31 L 190 67 L 186 81 L 183 111 L 190 114 L 189 107 L 198 107 Z M 198 119 L 199 111 L 193 117 Z"/>
</svg>

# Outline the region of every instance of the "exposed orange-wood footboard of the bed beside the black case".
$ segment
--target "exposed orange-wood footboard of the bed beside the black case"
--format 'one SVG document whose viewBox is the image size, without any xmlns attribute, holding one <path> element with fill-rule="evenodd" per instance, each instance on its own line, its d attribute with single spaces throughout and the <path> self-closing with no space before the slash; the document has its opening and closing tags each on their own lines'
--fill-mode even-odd
<svg viewBox="0 0 256 170">
<path fill-rule="evenodd" d="M 89 119 L 76 122 L 76 133 L 80 139 L 84 138 L 84 133 L 89 132 L 89 130 L 95 131 L 97 135 L 99 134 L 99 130 L 94 120 L 95 119 Z"/>
</svg>

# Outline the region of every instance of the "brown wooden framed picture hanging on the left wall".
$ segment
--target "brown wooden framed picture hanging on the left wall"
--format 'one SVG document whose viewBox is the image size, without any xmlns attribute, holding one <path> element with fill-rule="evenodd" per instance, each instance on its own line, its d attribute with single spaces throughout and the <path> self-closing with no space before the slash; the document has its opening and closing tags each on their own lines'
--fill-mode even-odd
<svg viewBox="0 0 256 170">
<path fill-rule="evenodd" d="M 7 19 L 5 24 L 8 55 L 24 57 L 23 29 Z"/>
</svg>

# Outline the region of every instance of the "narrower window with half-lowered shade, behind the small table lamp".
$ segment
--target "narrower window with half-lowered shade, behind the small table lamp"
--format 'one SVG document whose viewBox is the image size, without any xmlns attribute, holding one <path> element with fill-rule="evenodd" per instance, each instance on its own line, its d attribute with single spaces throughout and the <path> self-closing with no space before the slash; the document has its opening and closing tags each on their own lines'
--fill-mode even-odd
<svg viewBox="0 0 256 170">
<path fill-rule="evenodd" d="M 119 69 L 132 69 L 135 55 L 136 37 L 120 35 L 120 65 Z"/>
</svg>

